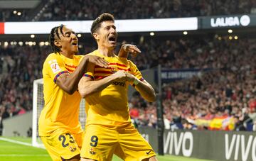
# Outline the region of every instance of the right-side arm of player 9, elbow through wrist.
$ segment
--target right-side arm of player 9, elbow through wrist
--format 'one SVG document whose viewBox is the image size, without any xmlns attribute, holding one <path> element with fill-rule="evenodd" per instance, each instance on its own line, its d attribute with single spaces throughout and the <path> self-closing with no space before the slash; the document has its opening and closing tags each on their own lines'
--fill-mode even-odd
<svg viewBox="0 0 256 161">
<path fill-rule="evenodd" d="M 156 93 L 153 89 L 153 87 L 151 87 L 151 85 L 146 82 L 146 80 L 139 80 L 137 79 L 137 77 L 135 77 L 134 75 L 130 74 L 129 72 L 127 72 L 127 81 L 132 84 L 132 86 L 139 91 L 139 94 L 142 95 L 142 97 L 144 99 L 146 99 L 146 101 L 156 101 Z"/>
</svg>

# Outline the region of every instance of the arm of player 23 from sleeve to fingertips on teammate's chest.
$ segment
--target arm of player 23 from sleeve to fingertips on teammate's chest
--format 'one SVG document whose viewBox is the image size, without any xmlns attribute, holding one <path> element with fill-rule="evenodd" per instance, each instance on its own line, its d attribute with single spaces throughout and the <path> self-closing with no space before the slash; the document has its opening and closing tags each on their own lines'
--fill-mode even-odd
<svg viewBox="0 0 256 161">
<path fill-rule="evenodd" d="M 78 83 L 82 75 L 85 73 L 88 62 L 92 62 L 100 67 L 108 67 L 107 62 L 102 59 L 102 57 L 85 55 L 75 71 L 71 74 L 61 74 L 60 77 L 57 78 L 56 84 L 68 94 L 73 94 L 78 89 Z"/>
</svg>

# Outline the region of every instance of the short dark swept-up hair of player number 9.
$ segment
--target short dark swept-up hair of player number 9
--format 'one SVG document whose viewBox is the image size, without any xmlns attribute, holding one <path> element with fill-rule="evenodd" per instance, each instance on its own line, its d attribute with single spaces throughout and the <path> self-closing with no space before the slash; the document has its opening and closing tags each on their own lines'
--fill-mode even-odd
<svg viewBox="0 0 256 161">
<path fill-rule="evenodd" d="M 95 19 L 95 21 L 93 21 L 91 26 L 91 33 L 95 33 L 96 30 L 100 28 L 101 23 L 104 21 L 114 21 L 114 16 L 110 13 L 102 13 Z"/>
</svg>

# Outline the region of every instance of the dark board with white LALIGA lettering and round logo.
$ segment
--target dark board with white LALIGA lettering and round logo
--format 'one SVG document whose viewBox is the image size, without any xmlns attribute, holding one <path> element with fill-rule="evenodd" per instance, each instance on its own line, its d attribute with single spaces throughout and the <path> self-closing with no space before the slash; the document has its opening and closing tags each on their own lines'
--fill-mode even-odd
<svg viewBox="0 0 256 161">
<path fill-rule="evenodd" d="M 203 29 L 256 26 L 256 15 L 207 16 L 199 18 Z"/>
</svg>

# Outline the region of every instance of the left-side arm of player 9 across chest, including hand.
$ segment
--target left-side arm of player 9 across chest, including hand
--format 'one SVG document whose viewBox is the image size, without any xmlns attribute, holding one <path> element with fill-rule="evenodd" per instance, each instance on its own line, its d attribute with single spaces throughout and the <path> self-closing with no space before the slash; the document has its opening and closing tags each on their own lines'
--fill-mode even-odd
<svg viewBox="0 0 256 161">
<path fill-rule="evenodd" d="M 124 71 L 119 70 L 116 73 L 100 80 L 92 80 L 90 77 L 82 77 L 78 84 L 78 91 L 82 98 L 85 98 L 90 96 L 90 94 L 102 91 L 114 81 L 127 81 L 127 75 Z"/>
</svg>

